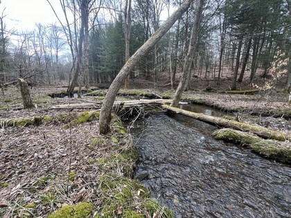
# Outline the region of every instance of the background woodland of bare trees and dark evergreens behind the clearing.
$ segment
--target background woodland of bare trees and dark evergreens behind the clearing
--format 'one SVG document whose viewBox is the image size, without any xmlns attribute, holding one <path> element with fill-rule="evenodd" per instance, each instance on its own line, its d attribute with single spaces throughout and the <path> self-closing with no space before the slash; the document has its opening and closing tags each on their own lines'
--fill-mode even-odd
<svg viewBox="0 0 291 218">
<path fill-rule="evenodd" d="M 48 10 L 50 8 L 50 1 Z M 6 28 L 1 13 L 0 81 L 108 87 L 132 55 L 182 1 L 60 1 L 60 23 L 21 32 Z M 35 9 L 37 10 L 37 9 Z M 195 3 L 134 68 L 125 87 L 171 87 L 179 82 Z M 290 67 L 290 0 L 204 1 L 190 81 L 225 89 L 274 85 L 287 89 Z M 258 80 L 254 81 L 255 78 Z M 272 80 L 265 80 L 265 78 Z M 211 82 L 212 81 L 212 82 Z M 213 81 L 215 81 L 213 83 Z M 266 82 L 268 81 L 268 82 Z M 271 82 L 270 82 L 271 81 Z M 279 82 L 279 84 L 278 84 Z M 188 82 L 188 88 L 193 88 Z M 197 83 L 201 84 L 200 82 Z"/>
</svg>

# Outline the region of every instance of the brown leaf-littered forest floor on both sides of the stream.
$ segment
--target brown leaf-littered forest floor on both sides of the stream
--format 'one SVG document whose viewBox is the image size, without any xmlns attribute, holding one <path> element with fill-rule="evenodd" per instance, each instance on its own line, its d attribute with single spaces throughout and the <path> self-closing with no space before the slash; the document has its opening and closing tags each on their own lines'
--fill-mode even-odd
<svg viewBox="0 0 291 218">
<path fill-rule="evenodd" d="M 225 93 L 231 81 L 222 81 L 218 84 L 195 78 L 193 89 L 185 92 L 183 99 L 229 111 L 241 122 L 291 134 L 291 105 L 283 85 L 241 95 Z M 167 75 L 159 82 L 159 88 L 152 89 L 150 82 L 136 78 L 132 87 L 141 89 L 122 93 L 134 92 L 136 99 L 145 93 L 173 98 Z M 249 87 L 239 84 L 239 89 Z M 166 217 L 168 211 L 150 199 L 142 185 L 130 180 L 137 156 L 121 120 L 114 118 L 112 134 L 102 136 L 98 134 L 96 109 L 51 109 L 54 105 L 102 100 L 104 95 L 83 96 L 81 100 L 48 96 L 64 91 L 64 87 L 33 87 L 31 95 L 37 106 L 26 110 L 16 87 L 1 93 L 0 217 L 46 217 L 80 202 L 92 203 L 92 208 L 85 209 L 96 217 Z M 118 99 L 125 100 L 125 96 Z M 37 117 L 42 117 L 42 123 L 36 122 Z M 11 119 L 14 126 L 6 125 Z"/>
</svg>

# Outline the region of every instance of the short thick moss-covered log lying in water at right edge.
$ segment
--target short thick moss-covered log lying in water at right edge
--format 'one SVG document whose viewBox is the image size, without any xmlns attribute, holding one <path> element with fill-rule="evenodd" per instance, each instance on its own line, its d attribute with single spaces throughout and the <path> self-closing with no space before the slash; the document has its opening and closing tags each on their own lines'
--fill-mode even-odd
<svg viewBox="0 0 291 218">
<path fill-rule="evenodd" d="M 291 163 L 291 143 L 289 141 L 265 140 L 254 134 L 235 129 L 218 129 L 213 133 L 214 138 L 247 145 L 254 152 L 267 158 L 283 163 Z"/>
</svg>

